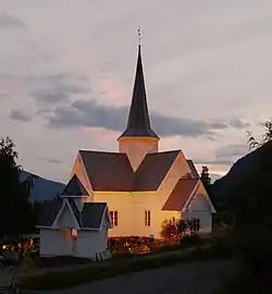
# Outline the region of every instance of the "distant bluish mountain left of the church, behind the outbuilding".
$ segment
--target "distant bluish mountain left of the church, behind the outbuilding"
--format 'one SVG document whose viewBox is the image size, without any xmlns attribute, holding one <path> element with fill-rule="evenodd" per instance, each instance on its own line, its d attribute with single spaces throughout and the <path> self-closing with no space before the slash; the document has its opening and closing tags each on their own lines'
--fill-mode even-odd
<svg viewBox="0 0 272 294">
<path fill-rule="evenodd" d="M 24 181 L 32 173 L 27 171 L 21 172 L 21 181 Z M 46 180 L 41 176 L 34 177 L 33 191 L 30 194 L 30 201 L 45 201 L 53 199 L 58 193 L 64 188 L 64 184 Z"/>
</svg>

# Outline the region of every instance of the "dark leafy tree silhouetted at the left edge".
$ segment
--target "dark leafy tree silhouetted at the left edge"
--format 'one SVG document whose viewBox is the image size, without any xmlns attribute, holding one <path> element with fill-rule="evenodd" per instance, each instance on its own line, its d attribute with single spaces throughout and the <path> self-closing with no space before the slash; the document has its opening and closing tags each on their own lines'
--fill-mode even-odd
<svg viewBox="0 0 272 294">
<path fill-rule="evenodd" d="M 0 140 L 0 236 L 18 235 L 34 229 L 32 204 L 28 201 L 33 175 L 21 182 L 18 154 L 9 137 Z"/>
</svg>

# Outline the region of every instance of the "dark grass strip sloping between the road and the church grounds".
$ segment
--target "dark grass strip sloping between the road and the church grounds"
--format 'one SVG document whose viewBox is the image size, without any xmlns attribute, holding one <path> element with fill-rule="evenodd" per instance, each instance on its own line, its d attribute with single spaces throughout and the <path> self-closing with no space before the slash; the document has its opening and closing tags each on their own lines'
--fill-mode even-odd
<svg viewBox="0 0 272 294">
<path fill-rule="evenodd" d="M 172 266 L 178 262 L 191 262 L 224 257 L 228 258 L 230 254 L 222 254 L 221 250 L 214 250 L 211 245 L 206 244 L 195 248 L 165 252 L 156 255 L 113 258 L 101 264 L 94 262 L 36 274 L 28 273 L 21 277 L 21 287 L 28 290 L 64 289 L 109 277 Z"/>
</svg>

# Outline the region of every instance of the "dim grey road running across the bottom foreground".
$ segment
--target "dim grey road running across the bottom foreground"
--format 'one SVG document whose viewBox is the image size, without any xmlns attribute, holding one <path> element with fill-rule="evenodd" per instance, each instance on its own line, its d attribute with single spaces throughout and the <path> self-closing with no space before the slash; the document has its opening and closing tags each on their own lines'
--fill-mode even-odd
<svg viewBox="0 0 272 294">
<path fill-rule="evenodd" d="M 233 260 L 181 264 L 129 273 L 59 291 L 27 294 L 213 294 L 234 271 Z"/>
</svg>

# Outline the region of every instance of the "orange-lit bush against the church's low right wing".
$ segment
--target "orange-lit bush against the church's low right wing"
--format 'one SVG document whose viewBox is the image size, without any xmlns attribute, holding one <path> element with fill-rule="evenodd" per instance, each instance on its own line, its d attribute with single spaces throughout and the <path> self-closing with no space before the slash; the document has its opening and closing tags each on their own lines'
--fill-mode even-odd
<svg viewBox="0 0 272 294">
<path fill-rule="evenodd" d="M 170 219 L 164 220 L 161 225 L 161 236 L 164 238 L 172 238 L 182 236 L 188 232 L 194 232 L 194 219 L 188 220 L 176 220 Z"/>
</svg>

